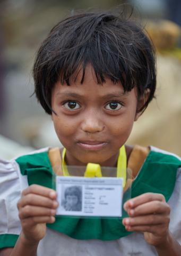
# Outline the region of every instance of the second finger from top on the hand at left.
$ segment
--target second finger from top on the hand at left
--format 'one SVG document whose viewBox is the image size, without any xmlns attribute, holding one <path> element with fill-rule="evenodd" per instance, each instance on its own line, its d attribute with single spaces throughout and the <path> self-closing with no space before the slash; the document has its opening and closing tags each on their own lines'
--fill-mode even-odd
<svg viewBox="0 0 181 256">
<path fill-rule="evenodd" d="M 27 194 L 23 196 L 17 204 L 18 209 L 20 209 L 25 205 L 35 205 L 35 206 L 42 206 L 42 207 L 56 209 L 58 206 L 58 203 L 57 201 L 45 196 L 39 196 L 36 194 Z"/>
</svg>

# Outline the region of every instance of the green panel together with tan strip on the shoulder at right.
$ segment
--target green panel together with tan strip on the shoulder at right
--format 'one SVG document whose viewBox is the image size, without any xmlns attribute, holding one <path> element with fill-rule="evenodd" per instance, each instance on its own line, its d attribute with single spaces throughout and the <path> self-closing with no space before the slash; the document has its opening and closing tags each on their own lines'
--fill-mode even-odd
<svg viewBox="0 0 181 256">
<path fill-rule="evenodd" d="M 129 159 L 128 167 L 134 177 L 132 196 L 160 193 L 168 201 L 180 179 L 180 157 L 152 146 L 146 149 L 147 152 L 144 147 L 136 146 Z"/>
</svg>

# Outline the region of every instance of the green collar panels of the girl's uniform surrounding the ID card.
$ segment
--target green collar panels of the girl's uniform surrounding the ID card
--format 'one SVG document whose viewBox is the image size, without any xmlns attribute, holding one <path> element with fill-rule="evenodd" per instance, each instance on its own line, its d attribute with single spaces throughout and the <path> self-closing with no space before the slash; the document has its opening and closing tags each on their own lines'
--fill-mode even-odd
<svg viewBox="0 0 181 256">
<path fill-rule="evenodd" d="M 16 159 L 22 175 L 28 175 L 28 183 L 52 188 L 53 171 L 48 153 L 22 156 Z M 133 182 L 132 198 L 146 192 L 161 193 L 166 201 L 173 193 L 176 173 L 181 162 L 174 156 L 150 151 L 142 169 Z M 128 195 L 124 194 L 123 202 Z M 126 215 L 123 210 L 123 217 Z M 114 240 L 131 234 L 125 230 L 122 218 L 75 218 L 56 217 L 56 221 L 47 227 L 64 233 L 75 239 Z"/>
</svg>

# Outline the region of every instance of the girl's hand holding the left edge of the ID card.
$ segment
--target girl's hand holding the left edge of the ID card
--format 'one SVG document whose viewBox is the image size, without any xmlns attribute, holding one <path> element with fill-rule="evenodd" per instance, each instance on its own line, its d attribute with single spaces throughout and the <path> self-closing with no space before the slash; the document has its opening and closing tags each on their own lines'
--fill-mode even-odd
<svg viewBox="0 0 181 256">
<path fill-rule="evenodd" d="M 18 202 L 21 236 L 25 242 L 39 242 L 46 234 L 46 223 L 55 221 L 58 203 L 53 189 L 31 185 Z"/>
</svg>

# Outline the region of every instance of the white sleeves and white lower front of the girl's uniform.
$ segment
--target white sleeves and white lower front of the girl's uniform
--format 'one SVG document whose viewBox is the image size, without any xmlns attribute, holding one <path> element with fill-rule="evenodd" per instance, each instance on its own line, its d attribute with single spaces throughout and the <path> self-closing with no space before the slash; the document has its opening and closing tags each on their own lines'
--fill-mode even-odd
<svg viewBox="0 0 181 256">
<path fill-rule="evenodd" d="M 45 150 L 45 149 L 44 149 Z M 44 151 L 42 150 L 42 151 Z M 21 191 L 28 187 L 27 176 L 22 176 L 15 161 L 0 159 L 0 235 L 20 234 L 21 223 L 16 204 Z M 173 195 L 168 201 L 171 207 L 169 229 L 181 244 L 181 168 Z M 133 233 L 114 241 L 77 240 L 57 231 L 47 229 L 38 246 L 38 256 L 104 256 L 104 255 L 157 255 L 156 249 L 145 242 L 142 233 Z"/>
</svg>

